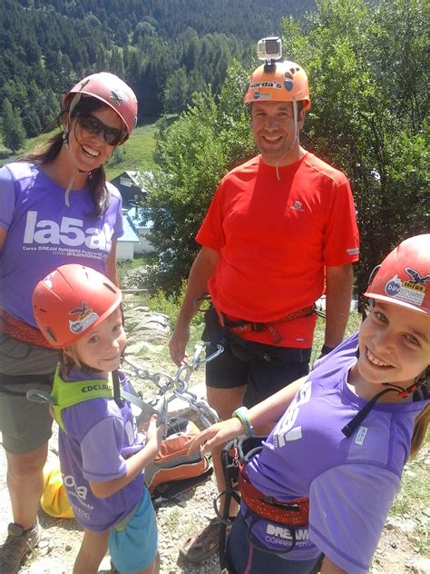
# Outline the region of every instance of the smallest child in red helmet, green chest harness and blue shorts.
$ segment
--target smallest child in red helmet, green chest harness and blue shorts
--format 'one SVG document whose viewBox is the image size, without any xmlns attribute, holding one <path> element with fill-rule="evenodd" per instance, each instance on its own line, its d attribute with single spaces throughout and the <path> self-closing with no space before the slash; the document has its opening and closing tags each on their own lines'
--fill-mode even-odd
<svg viewBox="0 0 430 574">
<path fill-rule="evenodd" d="M 63 350 L 52 397 L 64 486 L 84 529 L 73 574 L 95 574 L 108 547 L 122 573 L 159 572 L 157 526 L 142 470 L 160 449 L 163 425 L 157 428 L 152 417 L 145 441 L 130 403 L 112 398 L 111 372 L 131 391 L 116 371 L 125 347 L 121 302 L 109 279 L 78 264 L 55 269 L 33 294 L 41 332 Z M 94 393 L 100 396 L 87 400 Z"/>
</svg>

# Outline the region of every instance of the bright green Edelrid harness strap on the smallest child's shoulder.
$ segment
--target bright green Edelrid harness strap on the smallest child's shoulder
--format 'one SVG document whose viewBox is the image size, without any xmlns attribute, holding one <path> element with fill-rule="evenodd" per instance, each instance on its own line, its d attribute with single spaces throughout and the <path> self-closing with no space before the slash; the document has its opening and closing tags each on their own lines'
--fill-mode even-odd
<svg viewBox="0 0 430 574">
<path fill-rule="evenodd" d="M 67 407 L 73 407 L 74 404 L 90 401 L 91 399 L 113 399 L 112 376 L 109 375 L 109 381 L 98 379 L 95 381 L 74 381 L 70 383 L 63 380 L 60 368 L 57 367 L 51 396 L 54 401 L 55 421 L 58 422 L 60 428 L 64 431 L 62 411 L 67 409 Z"/>
</svg>

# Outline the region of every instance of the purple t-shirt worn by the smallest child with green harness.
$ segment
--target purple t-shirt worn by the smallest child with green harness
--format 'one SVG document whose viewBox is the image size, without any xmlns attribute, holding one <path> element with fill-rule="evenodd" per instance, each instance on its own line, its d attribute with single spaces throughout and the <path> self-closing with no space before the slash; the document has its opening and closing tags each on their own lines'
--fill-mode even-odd
<svg viewBox="0 0 430 574">
<path fill-rule="evenodd" d="M 73 371 L 70 376 L 74 381 L 99 378 L 82 371 Z M 131 392 L 127 379 L 120 378 L 124 390 Z M 59 456 L 64 486 L 76 520 L 88 529 L 105 530 L 120 523 L 139 503 L 145 488 L 142 473 L 106 499 L 94 496 L 89 484 L 90 480 L 105 482 L 122 477 L 125 459 L 144 446 L 131 404 L 122 402 L 120 408 L 112 399 L 91 399 L 62 411 L 65 432 L 59 432 Z"/>
</svg>

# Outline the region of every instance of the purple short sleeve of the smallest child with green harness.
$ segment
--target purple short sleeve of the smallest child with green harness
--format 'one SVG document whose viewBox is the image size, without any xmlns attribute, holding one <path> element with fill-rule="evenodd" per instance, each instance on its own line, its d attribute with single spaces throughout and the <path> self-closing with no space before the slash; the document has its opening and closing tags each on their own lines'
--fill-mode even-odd
<svg viewBox="0 0 430 574">
<path fill-rule="evenodd" d="M 117 417 L 107 417 L 87 432 L 81 441 L 86 480 L 106 482 L 125 474 L 125 460 L 121 455 L 123 434 L 123 421 Z"/>
</svg>

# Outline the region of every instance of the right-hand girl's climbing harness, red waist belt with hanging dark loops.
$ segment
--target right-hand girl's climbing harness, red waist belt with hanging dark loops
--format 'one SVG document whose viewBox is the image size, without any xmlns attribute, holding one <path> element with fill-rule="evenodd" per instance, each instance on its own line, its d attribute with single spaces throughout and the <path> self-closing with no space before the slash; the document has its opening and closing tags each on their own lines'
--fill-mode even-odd
<svg viewBox="0 0 430 574">
<path fill-rule="evenodd" d="M 296 528 L 308 524 L 308 497 L 282 502 L 274 497 L 266 496 L 248 480 L 246 464 L 262 449 L 261 443 L 263 440 L 266 440 L 266 437 L 239 437 L 239 439 L 231 440 L 221 453 L 226 483 L 226 490 L 221 492 L 217 498 L 218 500 L 221 495 L 225 496 L 224 514 L 220 517 L 220 567 L 222 572 L 228 573 L 229 569 L 231 569 L 226 554 L 227 523 L 229 520 L 234 520 L 234 518 L 230 517 L 231 499 L 238 502 L 243 500 L 246 504 L 249 512 L 244 517 L 236 520 L 251 519 L 251 523 L 248 526 L 249 543 L 264 552 L 276 552 L 279 555 L 288 554 L 296 545 Z M 215 510 L 217 511 L 216 501 Z M 277 522 L 283 528 L 288 529 L 291 536 L 291 547 L 286 550 L 271 550 L 263 546 L 252 533 L 254 525 L 259 520 Z"/>
</svg>

